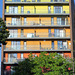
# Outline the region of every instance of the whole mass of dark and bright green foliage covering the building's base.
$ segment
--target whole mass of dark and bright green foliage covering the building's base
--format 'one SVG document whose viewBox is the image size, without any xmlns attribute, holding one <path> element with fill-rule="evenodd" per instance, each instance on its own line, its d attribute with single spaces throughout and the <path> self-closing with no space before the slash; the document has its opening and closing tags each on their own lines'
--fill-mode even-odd
<svg viewBox="0 0 75 75">
<path fill-rule="evenodd" d="M 42 52 L 39 57 L 31 54 L 28 59 L 19 62 L 14 70 L 14 75 L 72 75 L 72 63 L 57 53 L 47 55 Z"/>
</svg>

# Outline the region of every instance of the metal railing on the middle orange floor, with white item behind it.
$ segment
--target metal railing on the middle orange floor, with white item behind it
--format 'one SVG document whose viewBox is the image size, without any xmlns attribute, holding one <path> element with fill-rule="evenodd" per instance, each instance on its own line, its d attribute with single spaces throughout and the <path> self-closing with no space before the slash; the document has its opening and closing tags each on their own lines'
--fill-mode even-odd
<svg viewBox="0 0 75 75">
<path fill-rule="evenodd" d="M 58 33 L 10 33 L 9 38 L 43 38 L 43 37 L 55 37 L 55 38 L 65 38 L 70 37 L 70 33 L 58 32 Z"/>
</svg>

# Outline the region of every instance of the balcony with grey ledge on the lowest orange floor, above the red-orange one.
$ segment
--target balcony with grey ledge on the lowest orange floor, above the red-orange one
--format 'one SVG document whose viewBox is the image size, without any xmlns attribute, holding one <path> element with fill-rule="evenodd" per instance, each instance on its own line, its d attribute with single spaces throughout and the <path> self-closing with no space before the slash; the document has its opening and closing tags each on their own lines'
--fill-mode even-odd
<svg viewBox="0 0 75 75">
<path fill-rule="evenodd" d="M 67 45 L 6 45 L 4 46 L 4 52 L 32 52 L 32 51 L 71 51 L 71 47 Z"/>
</svg>

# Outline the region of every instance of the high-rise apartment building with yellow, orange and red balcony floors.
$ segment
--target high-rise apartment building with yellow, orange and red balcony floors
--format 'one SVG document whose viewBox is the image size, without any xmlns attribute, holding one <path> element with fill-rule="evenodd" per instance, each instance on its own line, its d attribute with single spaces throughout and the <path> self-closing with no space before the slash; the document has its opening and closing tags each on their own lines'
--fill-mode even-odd
<svg viewBox="0 0 75 75">
<path fill-rule="evenodd" d="M 30 52 L 73 57 L 71 0 L 3 0 L 3 19 L 10 33 L 2 50 L 4 75 Z"/>
</svg>

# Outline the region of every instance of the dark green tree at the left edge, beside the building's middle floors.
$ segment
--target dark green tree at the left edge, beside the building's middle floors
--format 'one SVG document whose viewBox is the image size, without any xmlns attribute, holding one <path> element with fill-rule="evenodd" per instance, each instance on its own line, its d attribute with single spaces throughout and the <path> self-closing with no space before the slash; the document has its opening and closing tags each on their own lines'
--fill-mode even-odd
<svg viewBox="0 0 75 75">
<path fill-rule="evenodd" d="M 7 31 L 7 27 L 5 22 L 0 18 L 0 43 L 5 44 L 7 37 L 9 36 L 9 31 Z"/>
</svg>

